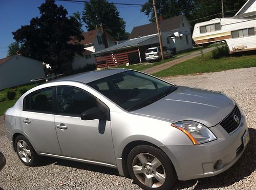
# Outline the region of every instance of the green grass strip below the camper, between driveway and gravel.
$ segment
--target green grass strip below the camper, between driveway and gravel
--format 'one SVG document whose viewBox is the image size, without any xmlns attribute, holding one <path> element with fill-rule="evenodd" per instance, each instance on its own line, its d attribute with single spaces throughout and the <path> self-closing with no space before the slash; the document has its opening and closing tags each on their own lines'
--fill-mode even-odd
<svg viewBox="0 0 256 190">
<path fill-rule="evenodd" d="M 153 75 L 158 77 L 164 77 L 193 73 L 208 73 L 247 67 L 256 67 L 255 55 L 229 57 L 214 60 L 211 58 L 211 52 L 208 52 L 202 56 L 190 59 L 188 61 L 169 67 L 168 69 L 154 73 Z"/>
</svg>

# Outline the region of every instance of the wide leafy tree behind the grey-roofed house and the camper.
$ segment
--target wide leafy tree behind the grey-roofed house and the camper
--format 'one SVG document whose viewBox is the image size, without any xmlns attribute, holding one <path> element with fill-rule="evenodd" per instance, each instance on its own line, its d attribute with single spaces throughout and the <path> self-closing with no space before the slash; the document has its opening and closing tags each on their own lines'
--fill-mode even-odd
<svg viewBox="0 0 256 190">
<path fill-rule="evenodd" d="M 224 16 L 233 16 L 244 4 L 246 0 L 224 0 Z M 213 18 L 221 17 L 221 0 L 158 0 L 156 1 L 158 15 L 164 19 L 184 14 L 191 25 Z M 141 8 L 141 12 L 149 17 L 151 22 L 155 22 L 155 14 L 152 0 L 148 0 Z M 199 19 L 200 20 L 197 20 Z"/>
</svg>

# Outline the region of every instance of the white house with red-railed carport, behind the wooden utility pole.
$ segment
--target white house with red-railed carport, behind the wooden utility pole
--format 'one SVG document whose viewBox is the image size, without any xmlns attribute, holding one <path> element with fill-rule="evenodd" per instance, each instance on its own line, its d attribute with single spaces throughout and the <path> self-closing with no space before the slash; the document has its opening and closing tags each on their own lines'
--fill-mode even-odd
<svg viewBox="0 0 256 190">
<path fill-rule="evenodd" d="M 191 25 L 184 15 L 159 21 L 162 43 L 168 49 L 182 52 L 192 48 Z M 124 63 L 141 63 L 145 61 L 147 48 L 159 46 L 156 23 L 133 28 L 129 39 L 120 44 L 98 50 L 97 67 L 119 65 Z"/>
</svg>

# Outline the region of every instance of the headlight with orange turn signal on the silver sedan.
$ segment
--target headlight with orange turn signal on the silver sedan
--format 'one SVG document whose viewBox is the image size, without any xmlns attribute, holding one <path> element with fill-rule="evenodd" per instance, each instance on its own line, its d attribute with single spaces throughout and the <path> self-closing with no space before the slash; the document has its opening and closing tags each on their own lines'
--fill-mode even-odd
<svg viewBox="0 0 256 190">
<path fill-rule="evenodd" d="M 173 123 L 172 126 L 184 132 L 194 145 L 217 139 L 210 129 L 195 121 L 180 121 Z"/>
</svg>

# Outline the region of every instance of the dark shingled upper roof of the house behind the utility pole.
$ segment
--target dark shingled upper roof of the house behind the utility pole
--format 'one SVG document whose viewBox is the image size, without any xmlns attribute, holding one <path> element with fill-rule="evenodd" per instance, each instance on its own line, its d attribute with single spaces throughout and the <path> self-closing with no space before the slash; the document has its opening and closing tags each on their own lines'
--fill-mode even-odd
<svg viewBox="0 0 256 190">
<path fill-rule="evenodd" d="M 161 31 L 172 31 L 175 29 L 179 29 L 182 19 L 184 17 L 184 15 L 180 15 L 165 20 L 160 20 L 159 25 Z M 133 38 L 148 36 L 151 34 L 157 34 L 156 22 L 134 27 L 128 39 L 130 40 Z"/>
</svg>

